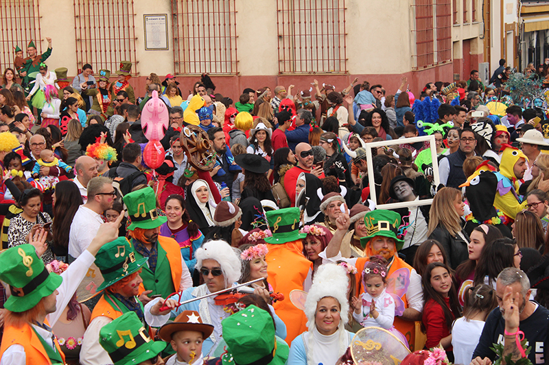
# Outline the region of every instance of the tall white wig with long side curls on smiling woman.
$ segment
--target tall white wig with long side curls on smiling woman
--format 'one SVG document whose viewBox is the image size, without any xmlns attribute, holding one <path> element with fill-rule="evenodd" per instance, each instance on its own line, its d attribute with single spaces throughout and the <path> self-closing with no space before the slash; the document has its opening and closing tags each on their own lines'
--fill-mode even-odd
<svg viewBox="0 0 549 365">
<path fill-rule="evenodd" d="M 338 331 L 340 333 L 340 349 L 338 356 L 343 355 L 347 350 L 347 331 L 344 327 L 349 322 L 349 299 L 347 298 L 347 286 L 349 278 L 342 266 L 336 264 L 323 264 L 314 274 L 313 285 L 305 300 L 305 316 L 307 316 L 307 327 L 309 328 L 309 353 L 314 353 L 313 329 L 316 327 L 315 315 L 316 305 L 325 297 L 332 297 L 340 305 L 340 322 Z M 307 355 L 307 364 L 313 364 L 312 356 Z"/>
</svg>

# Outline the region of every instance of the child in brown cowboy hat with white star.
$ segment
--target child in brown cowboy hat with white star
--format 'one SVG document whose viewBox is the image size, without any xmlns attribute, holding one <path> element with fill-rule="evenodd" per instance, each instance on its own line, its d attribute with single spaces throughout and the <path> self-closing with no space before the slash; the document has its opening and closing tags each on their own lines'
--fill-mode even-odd
<svg viewBox="0 0 549 365">
<path fill-rule="evenodd" d="M 202 365 L 202 342 L 209 338 L 213 326 L 202 323 L 200 314 L 186 310 L 174 322 L 163 325 L 160 338 L 172 345 L 176 353 L 166 361 L 166 365 Z"/>
</svg>

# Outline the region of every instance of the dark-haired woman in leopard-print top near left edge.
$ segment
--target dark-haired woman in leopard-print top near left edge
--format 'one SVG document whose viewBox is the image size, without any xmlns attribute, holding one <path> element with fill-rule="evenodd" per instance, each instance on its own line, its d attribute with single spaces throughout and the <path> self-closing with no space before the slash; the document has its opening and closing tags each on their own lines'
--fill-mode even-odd
<svg viewBox="0 0 549 365">
<path fill-rule="evenodd" d="M 40 212 L 42 206 L 43 194 L 36 188 L 23 191 L 17 205 L 23 212 L 17 214 L 10 219 L 10 227 L 8 228 L 8 246 L 14 247 L 20 244 L 27 244 L 27 235 L 30 234 L 32 227 L 35 225 L 45 225 L 51 223 L 49 214 Z M 51 247 L 48 247 L 42 255 L 42 260 L 45 264 L 54 260 L 54 254 L 51 252 Z"/>
</svg>

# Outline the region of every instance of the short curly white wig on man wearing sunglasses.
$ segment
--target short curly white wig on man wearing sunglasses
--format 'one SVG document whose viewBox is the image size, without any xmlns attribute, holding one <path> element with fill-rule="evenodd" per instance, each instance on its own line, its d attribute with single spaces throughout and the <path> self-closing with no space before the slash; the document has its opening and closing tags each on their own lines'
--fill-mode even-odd
<svg viewBox="0 0 549 365">
<path fill-rule="evenodd" d="M 223 240 L 211 240 L 202 244 L 200 249 L 196 250 L 196 268 L 202 268 L 202 261 L 215 260 L 218 262 L 223 276 L 225 277 L 225 286 L 229 287 L 242 275 L 242 262 L 240 260 L 240 251 L 233 249 L 230 244 Z M 345 287 L 347 288 L 347 286 Z"/>
</svg>

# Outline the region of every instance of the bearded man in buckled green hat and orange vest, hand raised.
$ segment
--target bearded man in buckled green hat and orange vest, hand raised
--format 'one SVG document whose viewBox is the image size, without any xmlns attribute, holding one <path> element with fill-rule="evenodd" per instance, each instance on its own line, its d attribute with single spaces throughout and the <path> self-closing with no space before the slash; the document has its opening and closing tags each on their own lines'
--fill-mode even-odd
<svg viewBox="0 0 549 365">
<path fill-rule="evenodd" d="M 347 210 L 347 207 L 345 207 L 345 210 Z M 358 271 L 355 275 L 355 292 L 357 295 L 364 292 L 364 288 L 360 285 L 362 283 L 364 265 L 374 255 L 382 255 L 388 261 L 388 284 L 390 287 L 398 290 L 401 287 L 401 283 L 409 280 L 408 290 L 403 290 L 404 294 L 401 296 L 405 307 L 404 313 L 402 316 L 395 316 L 394 324 L 395 328 L 408 338 L 410 346 L 413 346 L 415 337 L 414 320 L 421 320 L 421 311 L 423 310 L 423 289 L 421 288 L 421 277 L 416 273 L 416 270 L 406 264 L 397 253 L 404 244 L 403 240 L 397 238 L 400 221 L 400 215 L 390 210 L 366 212 L 364 215 L 364 225 L 366 225 L 368 236 L 360 238 L 360 244 L 364 247 L 364 257 L 346 259 L 341 257 L 340 247 L 342 239 L 347 234 L 351 223 L 349 211 L 347 210 L 345 214 L 340 215 L 336 219 L 338 229 L 325 251 L 320 253 L 320 257 L 331 262 L 344 260 L 357 268 Z M 393 273 L 397 270 L 399 270 L 399 273 L 393 277 Z M 404 275 L 408 278 L 404 277 Z M 393 280 L 398 280 L 394 286 L 391 285 L 391 281 Z"/>
</svg>

